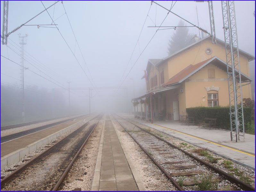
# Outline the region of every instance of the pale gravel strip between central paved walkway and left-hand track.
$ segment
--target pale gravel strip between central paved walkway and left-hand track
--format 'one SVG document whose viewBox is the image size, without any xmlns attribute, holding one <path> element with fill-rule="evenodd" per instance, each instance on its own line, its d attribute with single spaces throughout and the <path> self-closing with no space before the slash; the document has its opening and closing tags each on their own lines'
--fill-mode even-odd
<svg viewBox="0 0 256 192">
<path fill-rule="evenodd" d="M 103 128 L 102 118 L 58 190 L 90 191 Z"/>
</svg>

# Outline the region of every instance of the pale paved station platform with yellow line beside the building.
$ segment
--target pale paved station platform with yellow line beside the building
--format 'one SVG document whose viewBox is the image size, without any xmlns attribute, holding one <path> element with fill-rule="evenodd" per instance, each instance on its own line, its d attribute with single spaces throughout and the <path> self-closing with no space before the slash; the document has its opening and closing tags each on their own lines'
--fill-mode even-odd
<svg viewBox="0 0 256 192">
<path fill-rule="evenodd" d="M 145 124 L 151 128 L 177 137 L 198 147 L 230 159 L 238 164 L 255 169 L 255 136 L 245 133 L 245 141 L 231 141 L 230 131 L 198 128 L 198 126 L 182 125 L 178 121 L 156 121 L 153 124 L 135 119 L 134 115 L 121 115 L 124 118 Z"/>
</svg>

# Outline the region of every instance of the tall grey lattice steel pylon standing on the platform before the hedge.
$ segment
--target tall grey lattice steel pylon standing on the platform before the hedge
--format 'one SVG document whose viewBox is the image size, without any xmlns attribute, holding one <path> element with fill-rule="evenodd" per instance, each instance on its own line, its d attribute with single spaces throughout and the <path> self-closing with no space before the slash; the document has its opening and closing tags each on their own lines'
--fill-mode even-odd
<svg viewBox="0 0 256 192">
<path fill-rule="evenodd" d="M 234 1 L 221 1 L 226 46 L 231 140 L 244 140 L 243 95 Z"/>
</svg>

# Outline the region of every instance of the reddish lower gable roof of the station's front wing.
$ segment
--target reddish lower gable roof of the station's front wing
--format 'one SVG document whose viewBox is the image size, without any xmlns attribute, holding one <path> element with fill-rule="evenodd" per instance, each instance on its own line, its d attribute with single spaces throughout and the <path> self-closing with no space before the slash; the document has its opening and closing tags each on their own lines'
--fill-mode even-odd
<svg viewBox="0 0 256 192">
<path fill-rule="evenodd" d="M 214 62 L 213 62 L 214 61 Z M 183 70 L 181 70 L 179 73 L 177 73 L 175 76 L 169 79 L 169 81 L 164 84 L 163 86 L 168 86 L 168 85 L 174 85 L 174 84 L 180 84 L 184 80 L 186 80 L 188 77 L 192 76 L 195 74 L 197 71 L 199 71 L 201 68 L 205 67 L 209 63 L 213 63 L 214 65 L 218 65 L 219 68 L 223 69 L 226 71 L 226 63 L 219 59 L 218 57 L 214 56 L 210 59 L 204 60 L 200 63 L 197 63 L 195 65 L 189 65 Z M 241 73 L 241 81 L 252 81 L 248 76 L 244 75 Z"/>
</svg>

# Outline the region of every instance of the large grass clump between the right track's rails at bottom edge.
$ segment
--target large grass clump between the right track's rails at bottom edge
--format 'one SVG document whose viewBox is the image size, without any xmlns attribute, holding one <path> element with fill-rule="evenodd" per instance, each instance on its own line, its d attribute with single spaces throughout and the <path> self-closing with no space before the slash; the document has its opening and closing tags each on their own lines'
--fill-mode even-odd
<svg viewBox="0 0 256 192">
<path fill-rule="evenodd" d="M 218 182 L 213 180 L 213 175 L 204 175 L 201 177 L 201 183 L 198 183 L 196 180 L 195 182 L 200 191 L 215 191 L 218 188 Z"/>
</svg>

